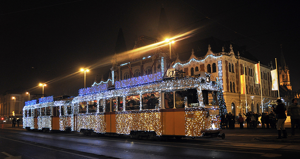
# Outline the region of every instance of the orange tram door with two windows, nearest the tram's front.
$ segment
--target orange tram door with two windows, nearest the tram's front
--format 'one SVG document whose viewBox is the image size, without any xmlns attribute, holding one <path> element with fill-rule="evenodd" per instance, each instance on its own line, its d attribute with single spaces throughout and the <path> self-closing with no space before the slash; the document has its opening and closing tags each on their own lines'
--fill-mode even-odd
<svg viewBox="0 0 300 159">
<path fill-rule="evenodd" d="M 183 91 L 162 92 L 163 135 L 185 135 Z"/>
</svg>

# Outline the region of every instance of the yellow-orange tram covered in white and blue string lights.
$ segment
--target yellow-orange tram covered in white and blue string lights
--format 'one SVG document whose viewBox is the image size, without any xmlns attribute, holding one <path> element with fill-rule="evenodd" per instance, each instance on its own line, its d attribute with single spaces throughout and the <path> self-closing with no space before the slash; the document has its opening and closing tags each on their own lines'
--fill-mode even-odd
<svg viewBox="0 0 300 159">
<path fill-rule="evenodd" d="M 107 83 L 84 88 L 72 100 L 46 97 L 40 98 L 39 104 L 29 101 L 24 107 L 23 127 L 143 139 L 224 139 L 217 84 L 210 74 L 162 76 L 158 72 L 116 81 L 113 88 Z"/>
</svg>

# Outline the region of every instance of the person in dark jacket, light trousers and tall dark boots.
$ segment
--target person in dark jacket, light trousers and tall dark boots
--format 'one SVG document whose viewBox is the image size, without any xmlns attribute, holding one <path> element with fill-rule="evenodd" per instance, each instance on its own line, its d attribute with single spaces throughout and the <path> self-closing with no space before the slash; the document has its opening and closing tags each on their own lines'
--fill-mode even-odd
<svg viewBox="0 0 300 159">
<path fill-rule="evenodd" d="M 286 108 L 285 105 L 282 103 L 281 99 L 277 99 L 276 101 L 277 106 L 275 107 L 274 105 L 273 107 L 273 111 L 276 113 L 277 115 L 277 131 L 278 131 L 278 137 L 276 137 L 276 139 L 281 139 L 281 130 L 282 129 L 282 133 L 283 133 L 283 137 L 282 138 L 287 138 L 287 133 L 286 130 L 284 128 L 284 122 L 286 121 Z"/>
</svg>

